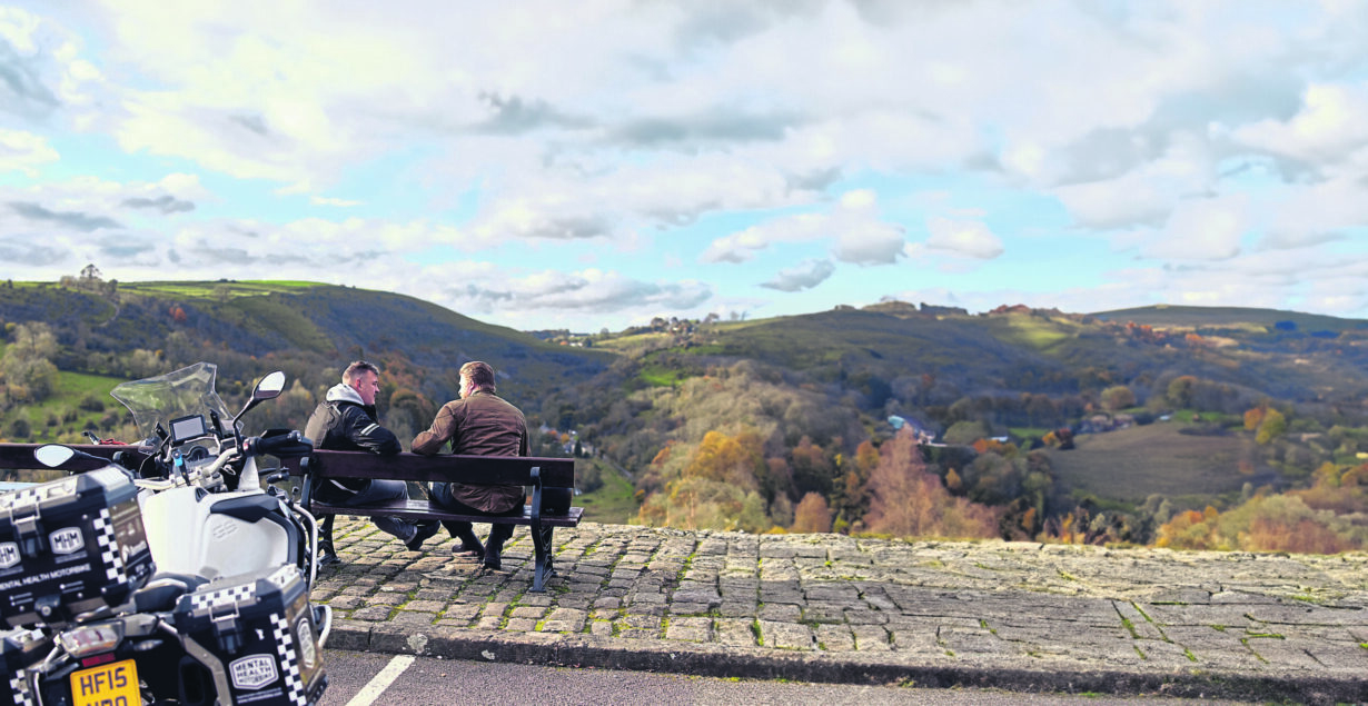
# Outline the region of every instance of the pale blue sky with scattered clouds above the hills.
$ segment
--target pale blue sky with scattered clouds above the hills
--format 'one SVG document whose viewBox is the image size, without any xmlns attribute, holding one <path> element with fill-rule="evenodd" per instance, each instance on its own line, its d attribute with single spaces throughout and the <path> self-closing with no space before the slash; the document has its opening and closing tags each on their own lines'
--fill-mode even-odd
<svg viewBox="0 0 1368 706">
<path fill-rule="evenodd" d="M 1368 319 L 1368 3 L 0 0 L 0 278 Z"/>
</svg>

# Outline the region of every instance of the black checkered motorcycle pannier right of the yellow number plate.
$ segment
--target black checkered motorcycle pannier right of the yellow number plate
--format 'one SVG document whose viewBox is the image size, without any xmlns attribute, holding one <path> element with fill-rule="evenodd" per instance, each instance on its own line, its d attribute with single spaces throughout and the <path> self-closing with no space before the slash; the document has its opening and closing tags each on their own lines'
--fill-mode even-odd
<svg viewBox="0 0 1368 706">
<path fill-rule="evenodd" d="M 280 566 L 182 595 L 172 623 L 190 657 L 212 675 L 220 702 L 302 706 L 327 688 L 308 601 L 300 571 Z"/>
</svg>

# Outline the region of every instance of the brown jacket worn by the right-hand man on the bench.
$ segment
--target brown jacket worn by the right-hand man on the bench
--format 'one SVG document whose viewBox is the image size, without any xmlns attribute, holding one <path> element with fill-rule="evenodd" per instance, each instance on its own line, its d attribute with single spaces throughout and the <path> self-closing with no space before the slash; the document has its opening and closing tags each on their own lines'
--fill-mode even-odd
<svg viewBox="0 0 1368 706">
<path fill-rule="evenodd" d="M 413 439 L 413 453 L 431 456 L 451 442 L 451 453 L 469 456 L 527 456 L 527 419 L 494 393 L 479 390 L 438 410 L 432 427 Z M 464 486 L 453 478 L 451 497 L 488 513 L 523 505 L 523 486 Z"/>
</svg>

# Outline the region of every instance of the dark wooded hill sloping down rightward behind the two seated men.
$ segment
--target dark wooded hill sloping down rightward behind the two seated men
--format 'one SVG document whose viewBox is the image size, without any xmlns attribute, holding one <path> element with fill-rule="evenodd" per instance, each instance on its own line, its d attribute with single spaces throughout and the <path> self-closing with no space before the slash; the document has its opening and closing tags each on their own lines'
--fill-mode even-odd
<svg viewBox="0 0 1368 706">
<path fill-rule="evenodd" d="M 119 363 L 137 349 L 182 364 L 218 361 L 220 379 L 238 383 L 272 358 L 311 389 L 332 384 L 349 360 L 394 353 L 434 372 L 420 390 L 432 400 L 454 397 L 449 372 L 468 360 L 498 360 L 508 393 L 521 398 L 568 375 L 595 375 L 609 357 L 413 297 L 309 282 L 15 283 L 0 287 L 0 322 L 45 322 L 57 334 L 59 368 L 124 379 L 156 372 Z"/>
</svg>

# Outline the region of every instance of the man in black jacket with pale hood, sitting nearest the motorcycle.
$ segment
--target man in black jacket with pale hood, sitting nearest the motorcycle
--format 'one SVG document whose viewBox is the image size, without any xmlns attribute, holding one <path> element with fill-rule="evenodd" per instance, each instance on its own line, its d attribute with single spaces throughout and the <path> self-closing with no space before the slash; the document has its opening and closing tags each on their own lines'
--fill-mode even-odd
<svg viewBox="0 0 1368 706">
<path fill-rule="evenodd" d="M 338 452 L 371 452 L 382 456 L 399 453 L 399 439 L 376 421 L 375 395 L 380 391 L 380 371 L 371 363 L 358 360 L 342 372 L 342 383 L 332 386 L 323 402 L 309 416 L 305 436 L 317 449 Z M 408 486 L 402 480 L 328 479 L 313 488 L 315 495 L 337 505 L 369 505 L 394 499 L 408 499 Z M 328 514 L 319 527 L 319 565 L 337 564 L 332 550 L 332 520 Z M 375 525 L 417 551 L 423 542 L 438 531 L 438 523 L 415 524 L 398 517 L 375 517 Z"/>
</svg>

